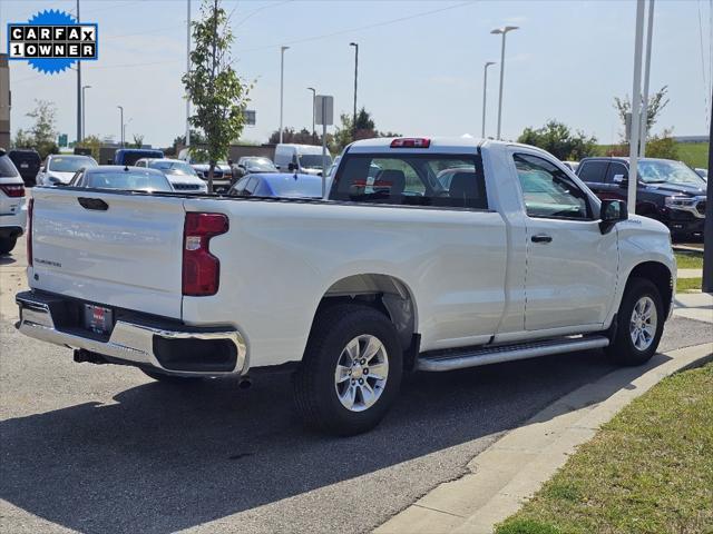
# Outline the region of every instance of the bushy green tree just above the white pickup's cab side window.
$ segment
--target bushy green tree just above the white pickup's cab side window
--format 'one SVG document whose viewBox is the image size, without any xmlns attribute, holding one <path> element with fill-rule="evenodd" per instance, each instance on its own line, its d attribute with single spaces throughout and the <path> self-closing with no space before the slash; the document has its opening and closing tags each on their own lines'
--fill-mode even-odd
<svg viewBox="0 0 713 534">
<path fill-rule="evenodd" d="M 564 122 L 549 120 L 543 128 L 525 128 L 517 141 L 539 147 L 561 160 L 579 160 L 596 154 L 597 138 L 583 131 L 573 134 Z"/>
</svg>

